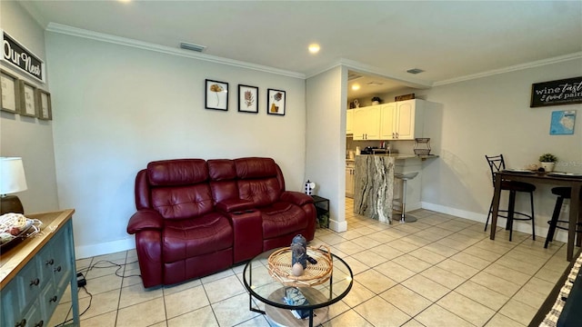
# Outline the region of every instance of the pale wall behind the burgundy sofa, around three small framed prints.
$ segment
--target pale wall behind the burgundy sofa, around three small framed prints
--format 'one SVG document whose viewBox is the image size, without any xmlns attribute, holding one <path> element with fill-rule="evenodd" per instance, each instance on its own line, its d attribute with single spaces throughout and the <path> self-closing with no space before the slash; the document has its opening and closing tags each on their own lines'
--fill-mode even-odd
<svg viewBox="0 0 582 327">
<path fill-rule="evenodd" d="M 273 157 L 286 189 L 305 180 L 305 80 L 49 32 L 61 207 L 73 207 L 78 257 L 135 247 L 135 173 L 154 160 Z M 207 110 L 205 79 L 229 83 L 227 112 Z M 237 112 L 237 84 L 259 87 L 259 114 Z M 266 114 L 266 89 L 286 114 Z"/>
</svg>

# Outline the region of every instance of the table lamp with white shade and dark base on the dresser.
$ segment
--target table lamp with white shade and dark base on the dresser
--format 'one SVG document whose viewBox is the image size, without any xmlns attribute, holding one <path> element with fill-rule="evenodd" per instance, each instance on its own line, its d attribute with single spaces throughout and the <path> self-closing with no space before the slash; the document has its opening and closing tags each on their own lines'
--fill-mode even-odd
<svg viewBox="0 0 582 327">
<path fill-rule="evenodd" d="M 0 214 L 25 213 L 20 199 L 7 194 L 23 192 L 27 188 L 22 158 L 0 157 Z"/>
</svg>

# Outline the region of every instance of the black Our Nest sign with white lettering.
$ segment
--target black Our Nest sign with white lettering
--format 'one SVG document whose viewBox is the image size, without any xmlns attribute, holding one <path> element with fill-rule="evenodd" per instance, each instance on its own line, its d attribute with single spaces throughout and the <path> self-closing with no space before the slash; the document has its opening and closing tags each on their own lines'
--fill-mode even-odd
<svg viewBox="0 0 582 327">
<path fill-rule="evenodd" d="M 35 77 L 37 80 L 44 82 L 45 76 L 43 75 L 45 71 L 44 63 L 35 54 L 28 51 L 24 45 L 20 45 L 15 39 L 7 35 L 6 32 L 3 35 L 3 55 L 2 58 L 14 64 L 16 67 L 23 70 L 26 74 Z"/>
</svg>

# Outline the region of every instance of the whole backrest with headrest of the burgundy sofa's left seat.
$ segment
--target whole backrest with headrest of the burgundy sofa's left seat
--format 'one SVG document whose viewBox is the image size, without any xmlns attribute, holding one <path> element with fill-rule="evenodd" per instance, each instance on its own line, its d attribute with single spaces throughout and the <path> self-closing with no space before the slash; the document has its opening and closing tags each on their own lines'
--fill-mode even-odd
<svg viewBox="0 0 582 327">
<path fill-rule="evenodd" d="M 146 173 L 150 205 L 164 218 L 192 218 L 214 211 L 205 160 L 152 162 Z"/>
</svg>

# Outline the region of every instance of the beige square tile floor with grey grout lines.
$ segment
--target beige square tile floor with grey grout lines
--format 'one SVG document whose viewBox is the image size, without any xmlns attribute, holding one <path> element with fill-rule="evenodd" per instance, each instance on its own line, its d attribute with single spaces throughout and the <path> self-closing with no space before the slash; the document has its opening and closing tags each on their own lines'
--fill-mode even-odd
<svg viewBox="0 0 582 327">
<path fill-rule="evenodd" d="M 354 286 L 329 309 L 324 326 L 526 326 L 567 267 L 566 246 L 483 223 L 418 210 L 416 223 L 386 225 L 356 215 L 346 199 L 348 230 L 318 229 L 309 245 L 326 243 L 354 272 Z M 248 310 L 243 265 L 175 286 L 146 291 L 135 251 L 77 261 L 83 270 L 101 260 L 125 263 L 85 273 L 79 291 L 83 327 L 269 326 Z M 99 266 L 110 266 L 100 263 Z M 133 275 L 133 276 L 132 276 Z M 65 301 L 65 300 L 64 300 Z M 63 302 L 52 322 L 64 320 Z M 51 326 L 54 326 L 51 322 Z"/>
</svg>

